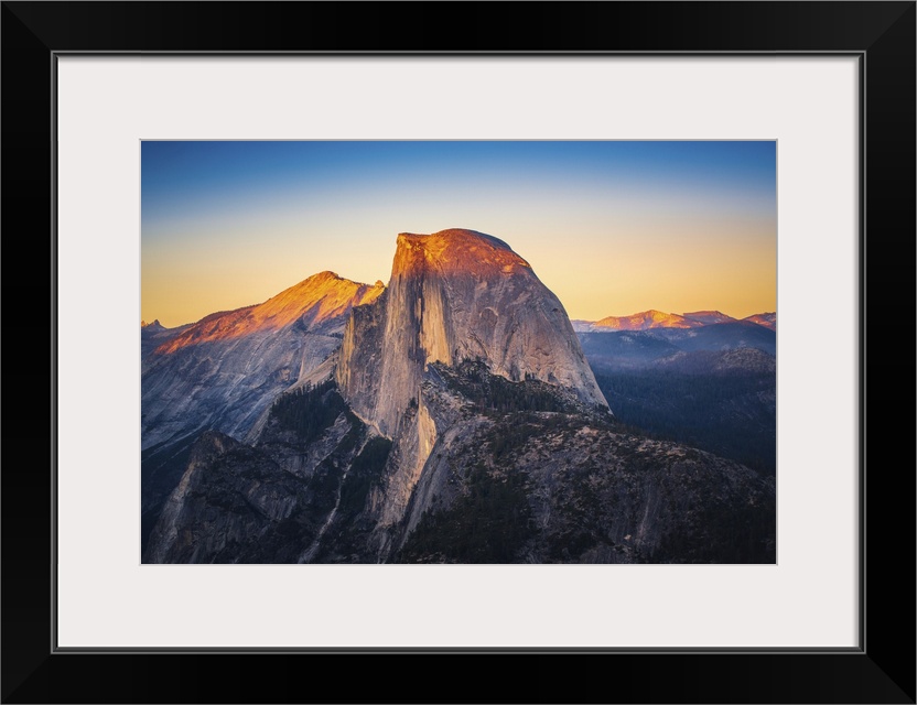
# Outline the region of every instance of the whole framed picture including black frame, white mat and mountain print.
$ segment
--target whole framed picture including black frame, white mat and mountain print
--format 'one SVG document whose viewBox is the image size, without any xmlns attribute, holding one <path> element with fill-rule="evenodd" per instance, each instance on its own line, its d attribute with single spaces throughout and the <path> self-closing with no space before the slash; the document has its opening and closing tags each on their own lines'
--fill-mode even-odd
<svg viewBox="0 0 917 705">
<path fill-rule="evenodd" d="M 302 699 L 302 670 L 332 657 L 367 672 L 363 685 L 310 697 L 441 699 L 377 685 L 419 655 L 463 701 L 483 699 L 454 683 L 473 658 L 528 684 L 515 688 L 524 701 L 915 702 L 914 457 L 900 442 L 914 419 L 886 391 L 914 387 L 915 3 L 688 2 L 662 17 L 655 3 L 513 4 L 511 22 L 497 7 L 439 6 L 449 19 L 431 45 L 407 29 L 418 6 L 397 3 L 364 6 L 356 20 L 354 6 L 326 3 L 3 3 L 3 213 L 17 264 L 6 329 L 8 343 L 28 339 L 7 346 L 7 370 L 37 380 L 8 391 L 2 630 L 17 646 L 2 654 L 4 702 Z M 608 177 L 609 163 L 623 166 Z M 644 188 L 679 181 L 680 195 Z M 22 224 L 46 235 L 12 235 Z M 701 252 L 676 251 L 688 236 L 673 234 L 691 227 Z M 651 280 L 627 259 L 625 235 L 655 242 L 659 281 L 690 269 L 686 281 L 712 286 L 726 275 L 706 268 L 722 258 L 746 294 L 769 278 L 775 305 L 723 304 L 729 319 L 708 321 L 715 312 L 702 308 L 719 304 L 572 303 L 573 283 L 624 302 Z M 754 273 L 748 260 L 768 257 Z M 385 271 L 350 274 L 360 258 Z M 447 281 L 418 274 L 430 262 Z M 579 281 L 567 289 L 561 270 Z M 273 289 L 251 286 L 266 271 Z M 339 311 L 287 321 L 281 290 L 313 275 Z M 613 291 L 587 289 L 612 280 Z M 357 293 L 341 293 L 350 283 Z M 520 297 L 530 325 L 506 308 Z M 151 302 L 170 313 L 148 314 Z M 626 315 L 656 307 L 665 335 Z M 776 333 L 753 319 L 775 311 Z M 575 355 L 514 348 L 500 314 L 530 343 Z M 542 329 L 552 315 L 560 323 Z M 139 332 L 148 316 L 162 321 Z M 377 340 L 379 316 L 401 323 Z M 627 335 L 602 330 L 603 318 Z M 226 340 L 288 324 L 295 339 L 257 357 L 282 358 L 270 370 L 207 367 L 228 359 Z M 716 325 L 719 351 L 683 348 Z M 730 426 L 688 445 L 656 430 L 643 455 L 715 456 L 715 473 L 691 460 L 690 474 L 723 491 L 669 529 L 635 505 L 637 534 L 614 525 L 605 500 L 583 510 L 586 486 L 626 502 L 623 480 L 609 489 L 601 473 L 574 482 L 539 470 L 536 446 L 560 416 L 576 426 L 568 456 L 578 434 L 598 438 L 585 455 L 601 440 L 629 443 L 589 414 L 607 413 L 612 390 L 647 399 L 661 378 L 640 377 L 649 387 L 635 391 L 634 375 L 603 376 L 601 360 L 618 364 L 636 341 L 671 346 L 682 367 L 710 362 L 736 347 L 722 343 L 731 325 L 745 338 L 774 333 L 774 355 L 738 346 L 757 350 L 758 367 L 776 359 L 770 471 L 766 455 L 746 457 L 753 425 L 732 432 L 734 446 Z M 296 348 L 296 367 L 283 356 L 306 338 L 312 357 Z M 404 367 L 416 340 L 429 359 Z M 182 351 L 192 347 L 197 357 Z M 904 360 L 891 364 L 898 348 Z M 216 377 L 170 382 L 166 357 L 179 352 Z M 668 393 L 684 394 L 667 370 Z M 641 409 L 614 423 L 662 423 Z M 204 416 L 219 419 L 209 446 L 163 441 L 204 430 Z M 327 445 L 344 479 L 309 465 L 314 443 L 296 452 L 300 476 L 265 470 L 294 432 Z M 226 451 L 246 434 L 249 445 Z M 903 447 L 904 471 L 888 471 Z M 144 467 L 157 451 L 184 456 Z M 240 466 L 227 460 L 237 451 Z M 410 475 L 438 463 L 449 471 Z M 497 471 L 510 465 L 522 485 Z M 226 494 L 237 467 L 260 474 Z M 625 470 L 646 496 L 671 491 L 668 476 Z M 546 488 L 557 494 L 539 505 Z M 657 503 L 678 516 L 676 495 Z M 710 510 L 725 495 L 760 523 Z M 257 545 L 226 539 L 256 531 L 237 517 L 274 510 L 289 521 Z M 474 541 L 450 533 L 462 522 Z M 611 677 L 544 668 L 564 663 Z M 198 690 L 177 690 L 163 665 Z M 538 683 L 525 676 L 533 665 Z"/>
</svg>

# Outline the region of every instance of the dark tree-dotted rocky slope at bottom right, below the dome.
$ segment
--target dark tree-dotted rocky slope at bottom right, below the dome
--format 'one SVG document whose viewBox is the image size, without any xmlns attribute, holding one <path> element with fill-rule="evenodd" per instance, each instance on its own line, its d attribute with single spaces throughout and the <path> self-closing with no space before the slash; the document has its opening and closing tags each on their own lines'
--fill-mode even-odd
<svg viewBox="0 0 917 705">
<path fill-rule="evenodd" d="M 773 563 L 775 530 L 774 478 L 614 421 L 492 408 L 435 444 L 390 560 Z"/>
</svg>

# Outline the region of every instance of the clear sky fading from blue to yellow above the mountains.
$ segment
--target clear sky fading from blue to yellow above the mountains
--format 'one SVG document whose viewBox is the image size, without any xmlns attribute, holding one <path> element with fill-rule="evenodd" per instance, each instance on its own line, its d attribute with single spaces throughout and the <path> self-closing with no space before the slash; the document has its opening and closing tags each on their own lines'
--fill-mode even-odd
<svg viewBox="0 0 917 705">
<path fill-rule="evenodd" d="M 141 317 L 388 282 L 399 232 L 470 228 L 571 318 L 776 311 L 776 142 L 142 142 Z"/>
</svg>

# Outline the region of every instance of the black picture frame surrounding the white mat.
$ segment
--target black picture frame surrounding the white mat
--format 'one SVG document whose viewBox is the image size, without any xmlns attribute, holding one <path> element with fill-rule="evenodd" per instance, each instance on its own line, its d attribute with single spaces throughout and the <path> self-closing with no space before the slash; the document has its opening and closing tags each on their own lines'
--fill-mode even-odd
<svg viewBox="0 0 917 705">
<path fill-rule="evenodd" d="M 3 2 L 0 22 L 2 702 L 915 702 L 915 2 Z M 860 648 L 57 651 L 52 147 L 55 56 L 68 52 L 857 55 Z M 330 666 L 353 677 L 342 683 Z"/>
</svg>

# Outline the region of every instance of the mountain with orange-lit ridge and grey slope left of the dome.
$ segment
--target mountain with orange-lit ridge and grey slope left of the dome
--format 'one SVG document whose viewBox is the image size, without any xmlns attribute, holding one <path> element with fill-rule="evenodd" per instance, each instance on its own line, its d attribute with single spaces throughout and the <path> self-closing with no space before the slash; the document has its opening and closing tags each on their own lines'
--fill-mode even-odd
<svg viewBox="0 0 917 705">
<path fill-rule="evenodd" d="M 245 437 L 278 393 L 337 348 L 353 306 L 384 290 L 322 272 L 169 337 L 143 360 L 142 447 L 204 429 Z"/>
</svg>

